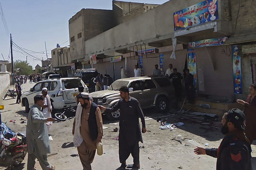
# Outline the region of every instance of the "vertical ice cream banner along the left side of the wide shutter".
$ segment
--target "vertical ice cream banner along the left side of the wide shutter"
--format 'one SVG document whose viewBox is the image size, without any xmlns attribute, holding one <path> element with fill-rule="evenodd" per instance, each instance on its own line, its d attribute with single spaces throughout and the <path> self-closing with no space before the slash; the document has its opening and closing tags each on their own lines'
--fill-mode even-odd
<svg viewBox="0 0 256 170">
<path fill-rule="evenodd" d="M 187 61 L 189 73 L 191 73 L 194 76 L 194 87 L 197 90 L 197 63 L 195 60 L 195 50 L 187 49 Z"/>
</svg>

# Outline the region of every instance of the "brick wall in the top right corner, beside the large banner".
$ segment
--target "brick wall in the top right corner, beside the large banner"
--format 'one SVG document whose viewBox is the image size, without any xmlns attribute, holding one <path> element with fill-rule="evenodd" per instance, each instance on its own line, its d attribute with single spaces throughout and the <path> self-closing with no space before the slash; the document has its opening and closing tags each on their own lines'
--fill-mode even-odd
<svg viewBox="0 0 256 170">
<path fill-rule="evenodd" d="M 239 5 L 240 1 L 240 5 Z M 256 0 L 230 0 L 234 34 L 254 32 L 256 28 Z M 239 8 L 240 6 L 240 8 Z M 237 22 L 236 22 L 237 20 Z"/>
</svg>

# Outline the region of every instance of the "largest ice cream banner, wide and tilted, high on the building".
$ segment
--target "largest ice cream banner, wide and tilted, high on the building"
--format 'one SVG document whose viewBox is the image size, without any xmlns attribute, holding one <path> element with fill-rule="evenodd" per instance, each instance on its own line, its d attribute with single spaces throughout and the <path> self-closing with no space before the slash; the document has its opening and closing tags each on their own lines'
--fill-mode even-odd
<svg viewBox="0 0 256 170">
<path fill-rule="evenodd" d="M 218 19 L 218 1 L 206 0 L 174 12 L 174 31 Z"/>
</svg>

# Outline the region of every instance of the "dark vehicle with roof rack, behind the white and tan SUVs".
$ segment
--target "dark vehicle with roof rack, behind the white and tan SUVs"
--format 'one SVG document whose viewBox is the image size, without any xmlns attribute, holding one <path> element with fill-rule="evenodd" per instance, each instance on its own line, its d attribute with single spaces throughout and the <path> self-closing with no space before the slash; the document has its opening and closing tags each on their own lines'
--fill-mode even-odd
<svg viewBox="0 0 256 170">
<path fill-rule="evenodd" d="M 97 76 L 97 69 L 78 69 L 75 72 L 75 76 L 79 77 L 83 80 L 83 82 L 88 86 L 89 92 L 95 92 L 95 85 L 93 83 L 93 79 Z"/>
</svg>

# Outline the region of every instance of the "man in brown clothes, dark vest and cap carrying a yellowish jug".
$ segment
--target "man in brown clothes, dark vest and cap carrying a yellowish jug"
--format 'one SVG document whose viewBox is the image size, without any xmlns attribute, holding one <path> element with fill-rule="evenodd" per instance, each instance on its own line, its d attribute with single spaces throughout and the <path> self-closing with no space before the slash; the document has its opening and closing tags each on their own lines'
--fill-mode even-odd
<svg viewBox="0 0 256 170">
<path fill-rule="evenodd" d="M 75 112 L 72 134 L 83 170 L 91 170 L 97 143 L 103 136 L 102 116 L 98 105 L 90 101 L 88 93 L 78 95 L 79 104 Z"/>
</svg>

